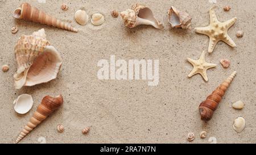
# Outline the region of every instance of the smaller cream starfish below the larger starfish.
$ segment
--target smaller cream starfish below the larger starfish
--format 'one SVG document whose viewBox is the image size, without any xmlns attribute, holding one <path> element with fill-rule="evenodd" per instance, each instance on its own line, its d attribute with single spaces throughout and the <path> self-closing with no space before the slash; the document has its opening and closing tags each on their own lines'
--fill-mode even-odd
<svg viewBox="0 0 256 155">
<path fill-rule="evenodd" d="M 192 77 L 195 74 L 200 74 L 205 81 L 208 81 L 207 69 L 213 68 L 216 64 L 210 64 L 205 62 L 205 52 L 201 54 L 199 60 L 193 60 L 192 58 L 187 58 L 188 62 L 193 65 L 193 70 L 188 74 L 188 77 Z"/>
</svg>

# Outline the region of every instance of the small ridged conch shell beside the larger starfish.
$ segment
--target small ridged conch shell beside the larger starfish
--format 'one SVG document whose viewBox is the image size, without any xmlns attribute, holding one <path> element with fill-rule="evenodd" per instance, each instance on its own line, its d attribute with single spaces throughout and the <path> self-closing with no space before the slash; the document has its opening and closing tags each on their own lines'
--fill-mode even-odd
<svg viewBox="0 0 256 155">
<path fill-rule="evenodd" d="M 187 12 L 179 11 L 173 6 L 168 11 L 168 22 L 172 27 L 191 30 L 191 20 L 192 18 Z"/>
</svg>

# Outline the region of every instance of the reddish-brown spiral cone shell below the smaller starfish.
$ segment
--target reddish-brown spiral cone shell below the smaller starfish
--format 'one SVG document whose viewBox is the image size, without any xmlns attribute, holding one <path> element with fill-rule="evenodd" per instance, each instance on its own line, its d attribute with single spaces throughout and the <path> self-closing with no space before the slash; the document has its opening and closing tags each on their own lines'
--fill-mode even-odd
<svg viewBox="0 0 256 155">
<path fill-rule="evenodd" d="M 232 82 L 234 76 L 236 76 L 236 71 L 233 72 L 216 90 L 210 94 L 206 100 L 204 100 L 199 105 L 199 112 L 201 115 L 201 120 L 208 121 L 212 119 L 213 112 L 216 110 L 218 103 L 220 103 L 226 89 L 228 89 L 230 83 Z"/>
</svg>

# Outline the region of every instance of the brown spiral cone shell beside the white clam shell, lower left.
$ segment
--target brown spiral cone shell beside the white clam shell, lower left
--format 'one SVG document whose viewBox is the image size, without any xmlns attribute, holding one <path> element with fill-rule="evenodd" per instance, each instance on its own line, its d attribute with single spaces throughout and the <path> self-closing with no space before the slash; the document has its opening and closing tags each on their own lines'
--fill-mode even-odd
<svg viewBox="0 0 256 155">
<path fill-rule="evenodd" d="M 19 143 L 20 140 L 23 139 L 32 129 L 34 129 L 38 124 L 40 124 L 44 119 L 47 118 L 53 111 L 59 108 L 63 104 L 62 95 L 58 95 L 57 97 L 46 96 L 43 98 L 41 104 L 39 104 L 36 112 L 30 118 L 30 121 L 23 128 L 22 132 L 20 132 L 18 138 L 15 143 Z"/>
</svg>

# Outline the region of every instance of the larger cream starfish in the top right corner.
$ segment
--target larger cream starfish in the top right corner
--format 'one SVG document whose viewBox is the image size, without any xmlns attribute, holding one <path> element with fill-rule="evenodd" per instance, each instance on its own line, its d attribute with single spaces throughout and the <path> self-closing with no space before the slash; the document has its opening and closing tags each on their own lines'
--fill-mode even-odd
<svg viewBox="0 0 256 155">
<path fill-rule="evenodd" d="M 236 47 L 236 44 L 228 35 L 228 29 L 233 26 L 236 22 L 237 18 L 234 17 L 229 19 L 226 22 L 219 22 L 213 8 L 209 11 L 210 14 L 210 25 L 207 27 L 196 27 L 195 31 L 197 33 L 202 33 L 204 35 L 209 36 L 209 47 L 208 52 L 212 53 L 215 45 L 218 41 L 224 41 L 226 44 L 230 45 L 231 47 Z"/>
</svg>

